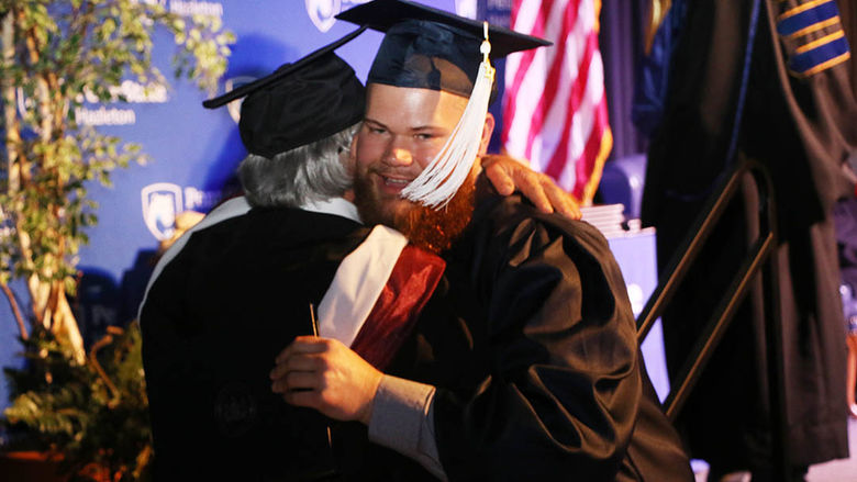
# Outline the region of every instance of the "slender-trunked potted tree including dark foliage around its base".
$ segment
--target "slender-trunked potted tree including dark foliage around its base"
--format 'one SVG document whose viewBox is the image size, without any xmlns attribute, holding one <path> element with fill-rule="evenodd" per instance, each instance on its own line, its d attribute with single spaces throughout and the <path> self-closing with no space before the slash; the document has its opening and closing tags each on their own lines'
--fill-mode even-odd
<svg viewBox="0 0 857 482">
<path fill-rule="evenodd" d="M 167 85 L 152 61 L 156 29 L 175 37 L 175 76 L 213 92 L 234 43 L 216 18 L 182 19 L 153 0 L 0 0 L 0 290 L 27 359 L 9 370 L 5 422 L 42 450 L 64 452 L 76 472 L 100 461 L 123 479 L 141 477 L 151 450 L 138 333 L 110 333 L 87 352 L 69 296 L 78 249 L 97 223 L 87 187 L 109 184 L 114 169 L 146 156 L 76 113 L 87 97 L 124 100 L 127 79 Z M 29 305 L 16 302 L 13 279 L 25 282 Z M 129 453 L 110 446 L 119 444 L 111 422 L 133 434 Z"/>
</svg>

